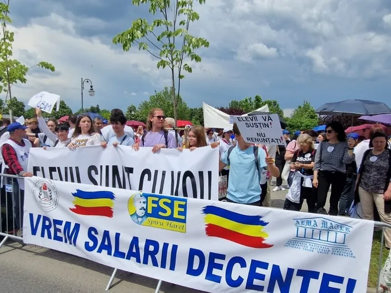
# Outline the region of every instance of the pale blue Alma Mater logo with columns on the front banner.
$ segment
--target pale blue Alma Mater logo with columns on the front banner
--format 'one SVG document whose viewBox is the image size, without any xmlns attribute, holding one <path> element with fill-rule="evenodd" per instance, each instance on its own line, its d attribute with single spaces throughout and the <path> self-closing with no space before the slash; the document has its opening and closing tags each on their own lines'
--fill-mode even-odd
<svg viewBox="0 0 391 293">
<path fill-rule="evenodd" d="M 296 237 L 285 247 L 313 253 L 356 258 L 348 247 L 352 227 L 323 217 L 293 219 L 292 230 Z"/>
</svg>

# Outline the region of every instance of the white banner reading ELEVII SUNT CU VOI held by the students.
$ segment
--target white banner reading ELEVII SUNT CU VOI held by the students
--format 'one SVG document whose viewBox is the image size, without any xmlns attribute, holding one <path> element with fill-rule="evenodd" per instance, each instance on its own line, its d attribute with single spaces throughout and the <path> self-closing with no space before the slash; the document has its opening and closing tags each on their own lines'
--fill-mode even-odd
<svg viewBox="0 0 391 293">
<path fill-rule="evenodd" d="M 218 199 L 218 148 L 183 152 L 152 147 L 32 148 L 28 170 L 52 180 L 146 192 Z"/>
</svg>

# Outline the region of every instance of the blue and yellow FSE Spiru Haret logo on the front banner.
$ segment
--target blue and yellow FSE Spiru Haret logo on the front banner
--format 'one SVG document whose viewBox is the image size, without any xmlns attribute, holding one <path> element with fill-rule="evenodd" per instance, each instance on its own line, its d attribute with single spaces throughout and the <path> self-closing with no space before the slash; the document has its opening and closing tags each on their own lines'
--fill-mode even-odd
<svg viewBox="0 0 391 293">
<path fill-rule="evenodd" d="M 130 197 L 128 211 L 138 225 L 186 233 L 186 198 L 139 191 Z"/>
</svg>

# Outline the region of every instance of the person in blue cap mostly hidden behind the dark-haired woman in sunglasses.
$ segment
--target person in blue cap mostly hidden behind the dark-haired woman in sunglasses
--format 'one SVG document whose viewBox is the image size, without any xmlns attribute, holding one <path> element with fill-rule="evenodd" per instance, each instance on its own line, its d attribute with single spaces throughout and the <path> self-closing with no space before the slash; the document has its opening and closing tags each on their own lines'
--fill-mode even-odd
<svg viewBox="0 0 391 293">
<path fill-rule="evenodd" d="M 356 132 L 349 133 L 347 135 L 348 139 L 354 139 L 356 142 L 354 146 L 357 146 L 358 139 L 360 135 Z M 354 200 L 354 191 L 357 179 L 357 165 L 354 160 L 352 163 L 346 165 L 346 183 L 344 191 L 341 193 L 341 198 L 339 200 L 338 206 L 338 215 L 348 216 L 350 205 Z"/>
</svg>

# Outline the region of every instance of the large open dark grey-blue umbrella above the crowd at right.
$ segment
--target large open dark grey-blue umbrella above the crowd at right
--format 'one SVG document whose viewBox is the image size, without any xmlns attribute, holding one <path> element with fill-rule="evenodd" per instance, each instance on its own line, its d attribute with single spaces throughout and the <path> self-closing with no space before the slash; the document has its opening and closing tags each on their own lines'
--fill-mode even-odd
<svg viewBox="0 0 391 293">
<path fill-rule="evenodd" d="M 319 115 L 351 116 L 351 115 L 378 115 L 389 114 L 391 109 L 382 102 L 369 100 L 345 100 L 327 103 L 315 111 Z"/>
</svg>

